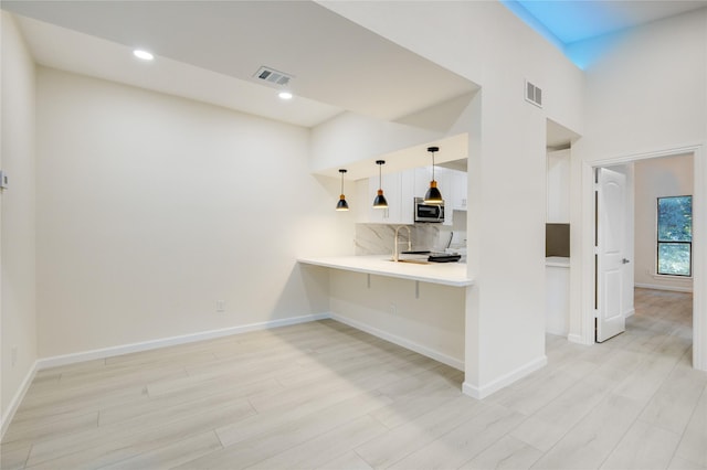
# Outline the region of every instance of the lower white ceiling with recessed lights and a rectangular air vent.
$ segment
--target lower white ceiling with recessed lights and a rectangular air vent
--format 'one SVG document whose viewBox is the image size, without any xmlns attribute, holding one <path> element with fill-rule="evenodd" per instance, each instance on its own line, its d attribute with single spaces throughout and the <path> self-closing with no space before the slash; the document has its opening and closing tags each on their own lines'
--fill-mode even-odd
<svg viewBox="0 0 707 470">
<path fill-rule="evenodd" d="M 36 62 L 312 127 L 344 110 L 394 120 L 477 89 L 312 1 L 14 1 Z M 156 55 L 133 57 L 135 47 Z M 294 75 L 295 99 L 254 77 Z"/>
</svg>

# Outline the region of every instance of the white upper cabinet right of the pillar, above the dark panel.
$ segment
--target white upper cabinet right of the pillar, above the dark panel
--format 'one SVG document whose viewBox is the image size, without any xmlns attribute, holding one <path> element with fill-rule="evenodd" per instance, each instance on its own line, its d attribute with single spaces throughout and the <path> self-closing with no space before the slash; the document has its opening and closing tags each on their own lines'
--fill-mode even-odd
<svg viewBox="0 0 707 470">
<path fill-rule="evenodd" d="M 549 224 L 570 223 L 570 149 L 548 152 L 548 213 Z"/>
</svg>

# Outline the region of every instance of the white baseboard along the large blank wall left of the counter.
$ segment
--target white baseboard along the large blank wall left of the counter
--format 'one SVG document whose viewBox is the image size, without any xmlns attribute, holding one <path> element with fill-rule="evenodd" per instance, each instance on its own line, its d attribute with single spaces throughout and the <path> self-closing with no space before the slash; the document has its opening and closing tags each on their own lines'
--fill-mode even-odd
<svg viewBox="0 0 707 470">
<path fill-rule="evenodd" d="M 158 348 L 172 346 L 177 344 L 193 343 L 197 341 L 211 340 L 214 338 L 230 337 L 232 334 L 247 333 L 249 331 L 266 330 L 270 328 L 287 327 L 291 324 L 305 323 L 308 321 L 328 319 L 329 313 L 307 314 L 302 317 L 284 318 L 281 320 L 264 321 L 261 323 L 250 323 L 240 327 L 230 327 L 219 330 L 202 331 L 193 334 L 180 337 L 162 338 L 159 340 L 144 341 L 140 343 L 122 344 L 119 346 L 104 348 L 99 350 L 83 351 L 72 354 L 63 354 L 53 357 L 41 359 L 36 362 L 36 370 L 56 367 L 59 365 L 75 364 L 96 359 L 113 357 L 116 355 L 129 354 L 140 351 L 149 351 Z"/>
</svg>

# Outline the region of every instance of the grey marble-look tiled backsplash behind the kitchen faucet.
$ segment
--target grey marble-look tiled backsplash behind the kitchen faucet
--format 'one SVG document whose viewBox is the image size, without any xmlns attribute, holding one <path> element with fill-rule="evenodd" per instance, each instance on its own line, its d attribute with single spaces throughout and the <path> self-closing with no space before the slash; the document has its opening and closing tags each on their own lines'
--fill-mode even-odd
<svg viewBox="0 0 707 470">
<path fill-rule="evenodd" d="M 399 225 L 356 224 L 356 255 L 386 255 L 393 253 L 393 237 Z M 440 224 L 405 225 L 412 234 L 412 249 L 441 252 L 452 236 L 451 227 Z M 399 249 L 408 249 L 408 231 L 399 231 Z"/>
</svg>

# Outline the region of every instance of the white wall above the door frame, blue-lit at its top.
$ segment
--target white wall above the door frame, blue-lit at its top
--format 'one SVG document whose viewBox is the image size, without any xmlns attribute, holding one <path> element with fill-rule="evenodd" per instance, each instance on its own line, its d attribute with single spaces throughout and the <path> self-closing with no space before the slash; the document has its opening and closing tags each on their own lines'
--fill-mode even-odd
<svg viewBox="0 0 707 470">
<path fill-rule="evenodd" d="M 703 9 L 612 38 L 585 71 L 585 127 L 573 151 L 604 160 L 704 142 L 706 17 Z"/>
</svg>

